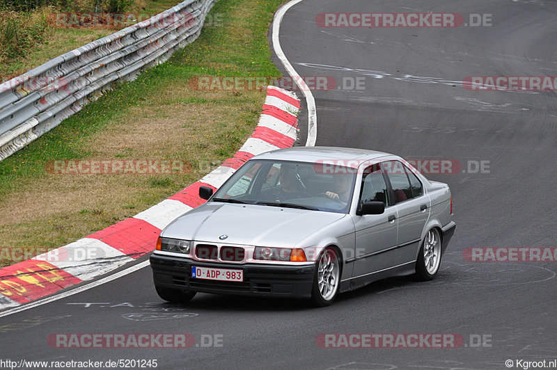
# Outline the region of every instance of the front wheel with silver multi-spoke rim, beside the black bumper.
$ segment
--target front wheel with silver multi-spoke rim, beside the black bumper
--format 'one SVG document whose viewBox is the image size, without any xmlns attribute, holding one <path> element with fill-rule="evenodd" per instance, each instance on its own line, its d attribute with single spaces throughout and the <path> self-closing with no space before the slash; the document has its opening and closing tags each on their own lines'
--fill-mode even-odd
<svg viewBox="0 0 557 370">
<path fill-rule="evenodd" d="M 340 286 L 340 263 L 336 250 L 326 248 L 317 259 L 311 302 L 315 307 L 331 305 Z"/>
</svg>

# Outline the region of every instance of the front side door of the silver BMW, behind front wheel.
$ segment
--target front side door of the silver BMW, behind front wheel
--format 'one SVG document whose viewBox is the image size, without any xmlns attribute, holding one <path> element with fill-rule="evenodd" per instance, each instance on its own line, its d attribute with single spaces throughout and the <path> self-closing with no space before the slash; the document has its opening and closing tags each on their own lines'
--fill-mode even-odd
<svg viewBox="0 0 557 370">
<path fill-rule="evenodd" d="M 359 204 L 380 201 L 385 211 L 379 215 L 354 216 L 356 253 L 352 276 L 372 275 L 393 265 L 398 220 L 389 188 L 379 163 L 363 170 Z"/>
</svg>

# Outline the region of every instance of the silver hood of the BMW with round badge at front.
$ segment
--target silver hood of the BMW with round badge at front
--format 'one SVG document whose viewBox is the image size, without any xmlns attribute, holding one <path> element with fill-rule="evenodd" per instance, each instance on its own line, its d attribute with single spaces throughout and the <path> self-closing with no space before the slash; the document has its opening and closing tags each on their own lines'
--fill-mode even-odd
<svg viewBox="0 0 557 370">
<path fill-rule="evenodd" d="M 208 202 L 178 217 L 161 235 L 210 243 L 295 247 L 345 216 L 306 209 Z M 228 237 L 220 240 L 221 235 Z"/>
</svg>

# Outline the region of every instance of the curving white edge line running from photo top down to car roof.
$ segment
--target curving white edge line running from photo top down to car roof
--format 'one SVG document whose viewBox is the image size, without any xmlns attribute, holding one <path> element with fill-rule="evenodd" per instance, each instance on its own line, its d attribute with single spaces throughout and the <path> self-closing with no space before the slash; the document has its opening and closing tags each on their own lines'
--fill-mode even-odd
<svg viewBox="0 0 557 370">
<path fill-rule="evenodd" d="M 298 72 L 296 72 L 294 67 L 292 67 L 292 65 L 288 61 L 288 58 L 286 58 L 286 56 L 284 55 L 283 49 L 281 48 L 281 42 L 278 40 L 278 33 L 281 29 L 281 22 L 286 11 L 292 8 L 292 6 L 295 6 L 300 1 L 301 0 L 292 0 L 290 1 L 290 3 L 286 3 L 280 9 L 278 9 L 278 11 L 275 13 L 273 20 L 273 49 L 276 56 L 278 56 L 278 59 L 280 59 L 281 63 L 283 63 L 286 72 L 288 72 L 288 74 L 290 74 L 290 77 L 292 77 L 292 79 L 296 81 L 301 92 L 304 93 L 304 96 L 306 97 L 306 104 L 308 106 L 308 138 L 306 140 L 306 147 L 313 147 L 315 146 L 315 140 L 317 140 L 317 109 L 315 108 L 315 98 L 313 97 L 311 90 L 309 90 L 304 80 L 301 79 Z"/>
</svg>

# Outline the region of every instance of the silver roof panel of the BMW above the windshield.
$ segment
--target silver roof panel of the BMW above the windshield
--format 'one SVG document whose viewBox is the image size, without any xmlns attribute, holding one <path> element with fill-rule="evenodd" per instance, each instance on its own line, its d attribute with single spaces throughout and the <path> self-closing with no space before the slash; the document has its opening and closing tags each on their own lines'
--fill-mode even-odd
<svg viewBox="0 0 557 370">
<path fill-rule="evenodd" d="M 253 159 L 280 159 L 284 161 L 317 162 L 323 160 L 367 161 L 393 154 L 375 150 L 354 149 L 349 147 L 289 147 L 273 150 L 254 156 Z"/>
</svg>

